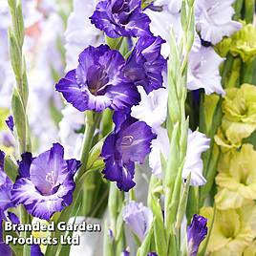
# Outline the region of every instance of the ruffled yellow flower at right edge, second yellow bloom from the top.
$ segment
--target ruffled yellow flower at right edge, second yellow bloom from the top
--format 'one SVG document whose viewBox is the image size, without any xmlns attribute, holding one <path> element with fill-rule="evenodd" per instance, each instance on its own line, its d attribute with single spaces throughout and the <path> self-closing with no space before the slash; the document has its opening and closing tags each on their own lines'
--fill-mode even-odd
<svg viewBox="0 0 256 256">
<path fill-rule="evenodd" d="M 226 90 L 222 129 L 226 139 L 236 144 L 256 129 L 256 87 L 243 84 Z"/>
</svg>

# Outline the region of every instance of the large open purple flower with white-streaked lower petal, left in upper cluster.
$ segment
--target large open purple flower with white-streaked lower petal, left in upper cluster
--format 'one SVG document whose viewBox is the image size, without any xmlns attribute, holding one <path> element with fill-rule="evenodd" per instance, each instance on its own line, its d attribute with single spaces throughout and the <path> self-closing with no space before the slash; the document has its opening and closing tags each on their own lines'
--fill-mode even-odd
<svg viewBox="0 0 256 256">
<path fill-rule="evenodd" d="M 125 60 L 107 45 L 89 46 L 79 65 L 56 84 L 56 90 L 79 111 L 119 110 L 138 104 L 139 92 L 123 75 Z"/>
</svg>

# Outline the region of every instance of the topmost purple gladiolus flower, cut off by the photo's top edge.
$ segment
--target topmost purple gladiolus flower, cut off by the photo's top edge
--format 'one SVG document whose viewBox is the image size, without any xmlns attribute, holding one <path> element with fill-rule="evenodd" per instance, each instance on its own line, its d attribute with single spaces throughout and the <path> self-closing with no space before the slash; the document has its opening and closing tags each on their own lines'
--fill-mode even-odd
<svg viewBox="0 0 256 256">
<path fill-rule="evenodd" d="M 101 0 L 90 19 L 109 37 L 151 34 L 150 19 L 141 10 L 141 0 Z"/>
</svg>

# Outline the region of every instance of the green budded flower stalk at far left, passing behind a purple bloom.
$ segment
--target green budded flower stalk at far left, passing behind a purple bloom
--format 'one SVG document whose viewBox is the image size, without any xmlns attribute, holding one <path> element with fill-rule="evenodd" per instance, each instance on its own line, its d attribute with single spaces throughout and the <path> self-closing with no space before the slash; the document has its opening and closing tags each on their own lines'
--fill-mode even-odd
<svg viewBox="0 0 256 256">
<path fill-rule="evenodd" d="M 26 114 L 29 88 L 26 73 L 25 58 L 23 55 L 24 21 L 20 0 L 9 0 L 11 11 L 11 28 L 9 29 L 11 66 L 15 75 L 16 87 L 13 90 L 11 108 L 19 142 L 20 154 L 31 151 L 31 139 L 29 122 Z M 24 206 L 20 206 L 20 221 L 22 224 L 30 224 L 30 215 Z M 30 232 L 21 232 L 21 237 L 27 238 Z M 31 255 L 31 246 L 24 245 L 23 256 Z"/>
</svg>

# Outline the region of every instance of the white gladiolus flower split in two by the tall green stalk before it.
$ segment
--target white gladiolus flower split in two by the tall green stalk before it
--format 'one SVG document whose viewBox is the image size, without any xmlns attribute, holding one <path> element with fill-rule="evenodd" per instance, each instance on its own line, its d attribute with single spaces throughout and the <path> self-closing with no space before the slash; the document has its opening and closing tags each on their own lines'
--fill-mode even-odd
<svg viewBox="0 0 256 256">
<path fill-rule="evenodd" d="M 170 145 L 167 130 L 159 128 L 157 131 L 158 138 L 152 141 L 152 151 L 149 154 L 149 166 L 152 172 L 161 177 L 160 156 L 168 159 Z M 191 185 L 203 185 L 206 180 L 203 177 L 203 160 L 201 155 L 209 148 L 210 139 L 207 139 L 204 134 L 188 130 L 187 152 L 182 170 L 182 179 L 187 179 L 191 173 Z"/>
</svg>

